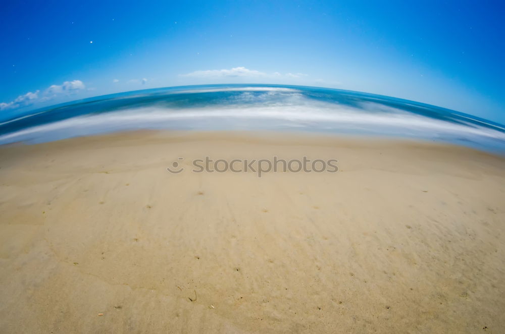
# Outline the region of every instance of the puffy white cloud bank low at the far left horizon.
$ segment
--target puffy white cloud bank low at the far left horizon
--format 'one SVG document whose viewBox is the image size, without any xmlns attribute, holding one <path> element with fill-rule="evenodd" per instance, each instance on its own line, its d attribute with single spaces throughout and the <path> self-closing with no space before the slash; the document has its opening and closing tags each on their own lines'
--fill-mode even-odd
<svg viewBox="0 0 505 334">
<path fill-rule="evenodd" d="M 34 93 L 28 92 L 24 95 L 19 95 L 11 102 L 2 102 L 0 103 L 0 110 L 20 108 L 36 102 L 48 101 L 57 96 L 75 94 L 84 88 L 86 88 L 86 86 L 80 80 L 65 81 L 61 85 L 49 86 L 42 94 L 37 90 Z"/>
</svg>

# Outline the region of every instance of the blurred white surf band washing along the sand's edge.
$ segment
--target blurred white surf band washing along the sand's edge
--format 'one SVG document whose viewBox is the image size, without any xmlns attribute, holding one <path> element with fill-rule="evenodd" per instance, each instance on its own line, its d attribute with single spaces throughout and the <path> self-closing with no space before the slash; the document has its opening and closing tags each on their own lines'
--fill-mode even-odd
<svg viewBox="0 0 505 334">
<path fill-rule="evenodd" d="M 230 89 L 223 88 L 223 90 Z M 484 137 L 505 140 L 505 133 L 490 128 L 450 123 L 391 107 L 387 107 L 389 108 L 387 112 L 377 113 L 370 111 L 373 109 L 370 105 L 367 111 L 367 109 L 328 102 L 300 103 L 301 101 L 296 96 L 293 98 L 296 102 L 292 104 L 289 101 L 283 101 L 270 105 L 231 104 L 181 109 L 149 106 L 124 109 L 117 112 L 74 117 L 23 129 L 0 136 L 0 143 L 33 141 L 51 135 L 59 136 L 57 139 L 61 139 L 135 129 L 200 129 L 203 126 L 210 126 L 212 130 L 212 128 L 221 129 L 225 124 L 226 129 L 271 129 L 276 126 L 335 130 L 336 132 L 358 129 L 386 135 Z M 267 122 L 259 122 L 265 120 Z M 214 123 L 211 124 L 210 121 Z"/>
</svg>

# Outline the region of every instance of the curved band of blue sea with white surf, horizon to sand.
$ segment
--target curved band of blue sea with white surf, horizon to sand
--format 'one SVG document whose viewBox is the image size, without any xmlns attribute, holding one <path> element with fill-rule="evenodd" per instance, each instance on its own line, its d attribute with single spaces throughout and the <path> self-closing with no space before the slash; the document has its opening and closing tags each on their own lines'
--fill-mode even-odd
<svg viewBox="0 0 505 334">
<path fill-rule="evenodd" d="M 0 122 L 0 144 L 139 129 L 295 130 L 418 138 L 505 154 L 503 125 L 433 105 L 318 87 L 149 89 L 60 104 Z"/>
</svg>

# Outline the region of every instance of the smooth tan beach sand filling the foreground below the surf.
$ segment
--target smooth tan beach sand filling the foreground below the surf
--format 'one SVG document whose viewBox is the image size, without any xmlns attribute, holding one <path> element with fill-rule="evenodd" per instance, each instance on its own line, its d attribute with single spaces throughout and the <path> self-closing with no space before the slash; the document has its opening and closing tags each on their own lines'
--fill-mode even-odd
<svg viewBox="0 0 505 334">
<path fill-rule="evenodd" d="M 189 171 L 273 155 L 339 171 Z M 503 157 L 442 144 L 136 132 L 0 147 L 0 332 L 500 333 L 504 204 Z"/>
</svg>

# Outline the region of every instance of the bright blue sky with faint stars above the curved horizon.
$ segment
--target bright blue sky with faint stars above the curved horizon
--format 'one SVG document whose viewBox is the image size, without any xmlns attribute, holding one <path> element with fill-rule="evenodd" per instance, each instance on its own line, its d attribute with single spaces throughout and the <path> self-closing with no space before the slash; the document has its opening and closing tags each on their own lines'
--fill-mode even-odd
<svg viewBox="0 0 505 334">
<path fill-rule="evenodd" d="M 502 1 L 0 1 L 0 118 L 123 91 L 307 85 L 505 123 Z"/>
</svg>

